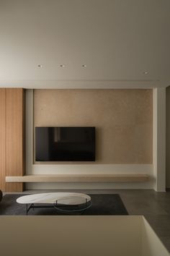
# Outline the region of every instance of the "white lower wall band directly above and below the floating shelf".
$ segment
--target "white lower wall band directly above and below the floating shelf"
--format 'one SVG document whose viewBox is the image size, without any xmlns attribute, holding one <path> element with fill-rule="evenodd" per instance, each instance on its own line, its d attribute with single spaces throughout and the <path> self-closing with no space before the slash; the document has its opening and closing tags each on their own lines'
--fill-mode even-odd
<svg viewBox="0 0 170 256">
<path fill-rule="evenodd" d="M 149 174 L 150 164 L 32 164 L 27 174 Z M 27 189 L 149 189 L 153 180 L 139 183 L 28 183 Z"/>
</svg>

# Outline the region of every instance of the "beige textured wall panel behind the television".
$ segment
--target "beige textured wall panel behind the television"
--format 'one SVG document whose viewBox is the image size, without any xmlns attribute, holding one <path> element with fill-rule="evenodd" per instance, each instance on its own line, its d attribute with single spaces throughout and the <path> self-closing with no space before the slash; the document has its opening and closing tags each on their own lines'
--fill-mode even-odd
<svg viewBox="0 0 170 256">
<path fill-rule="evenodd" d="M 152 90 L 35 90 L 36 126 L 94 126 L 95 163 L 152 163 Z"/>
</svg>

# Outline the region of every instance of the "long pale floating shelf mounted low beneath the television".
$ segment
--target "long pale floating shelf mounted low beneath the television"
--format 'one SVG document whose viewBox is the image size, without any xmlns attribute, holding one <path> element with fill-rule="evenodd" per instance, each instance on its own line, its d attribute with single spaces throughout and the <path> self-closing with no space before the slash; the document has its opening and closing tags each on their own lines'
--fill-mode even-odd
<svg viewBox="0 0 170 256">
<path fill-rule="evenodd" d="M 71 174 L 6 176 L 6 182 L 147 182 L 148 174 Z"/>
</svg>

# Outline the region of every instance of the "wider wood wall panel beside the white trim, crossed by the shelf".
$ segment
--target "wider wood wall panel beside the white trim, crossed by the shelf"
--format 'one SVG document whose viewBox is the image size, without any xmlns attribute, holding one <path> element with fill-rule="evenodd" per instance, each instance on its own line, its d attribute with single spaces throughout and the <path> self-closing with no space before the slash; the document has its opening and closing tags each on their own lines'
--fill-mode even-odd
<svg viewBox="0 0 170 256">
<path fill-rule="evenodd" d="M 24 90 L 6 89 L 6 176 L 24 175 Z M 6 183 L 7 192 L 23 191 L 22 183 Z"/>
</svg>

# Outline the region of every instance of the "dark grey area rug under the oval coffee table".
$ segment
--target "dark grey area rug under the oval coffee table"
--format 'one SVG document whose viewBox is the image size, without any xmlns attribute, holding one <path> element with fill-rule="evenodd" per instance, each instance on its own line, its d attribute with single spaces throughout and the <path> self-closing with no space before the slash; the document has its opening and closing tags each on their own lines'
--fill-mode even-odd
<svg viewBox="0 0 170 256">
<path fill-rule="evenodd" d="M 18 197 L 23 195 L 4 195 L 0 202 L 0 215 L 3 216 L 24 216 L 26 214 L 26 205 L 16 202 Z M 128 215 L 128 211 L 118 194 L 92 194 L 91 208 L 81 213 L 63 213 L 55 208 L 30 209 L 29 216 L 48 216 L 48 215 Z"/>
</svg>

